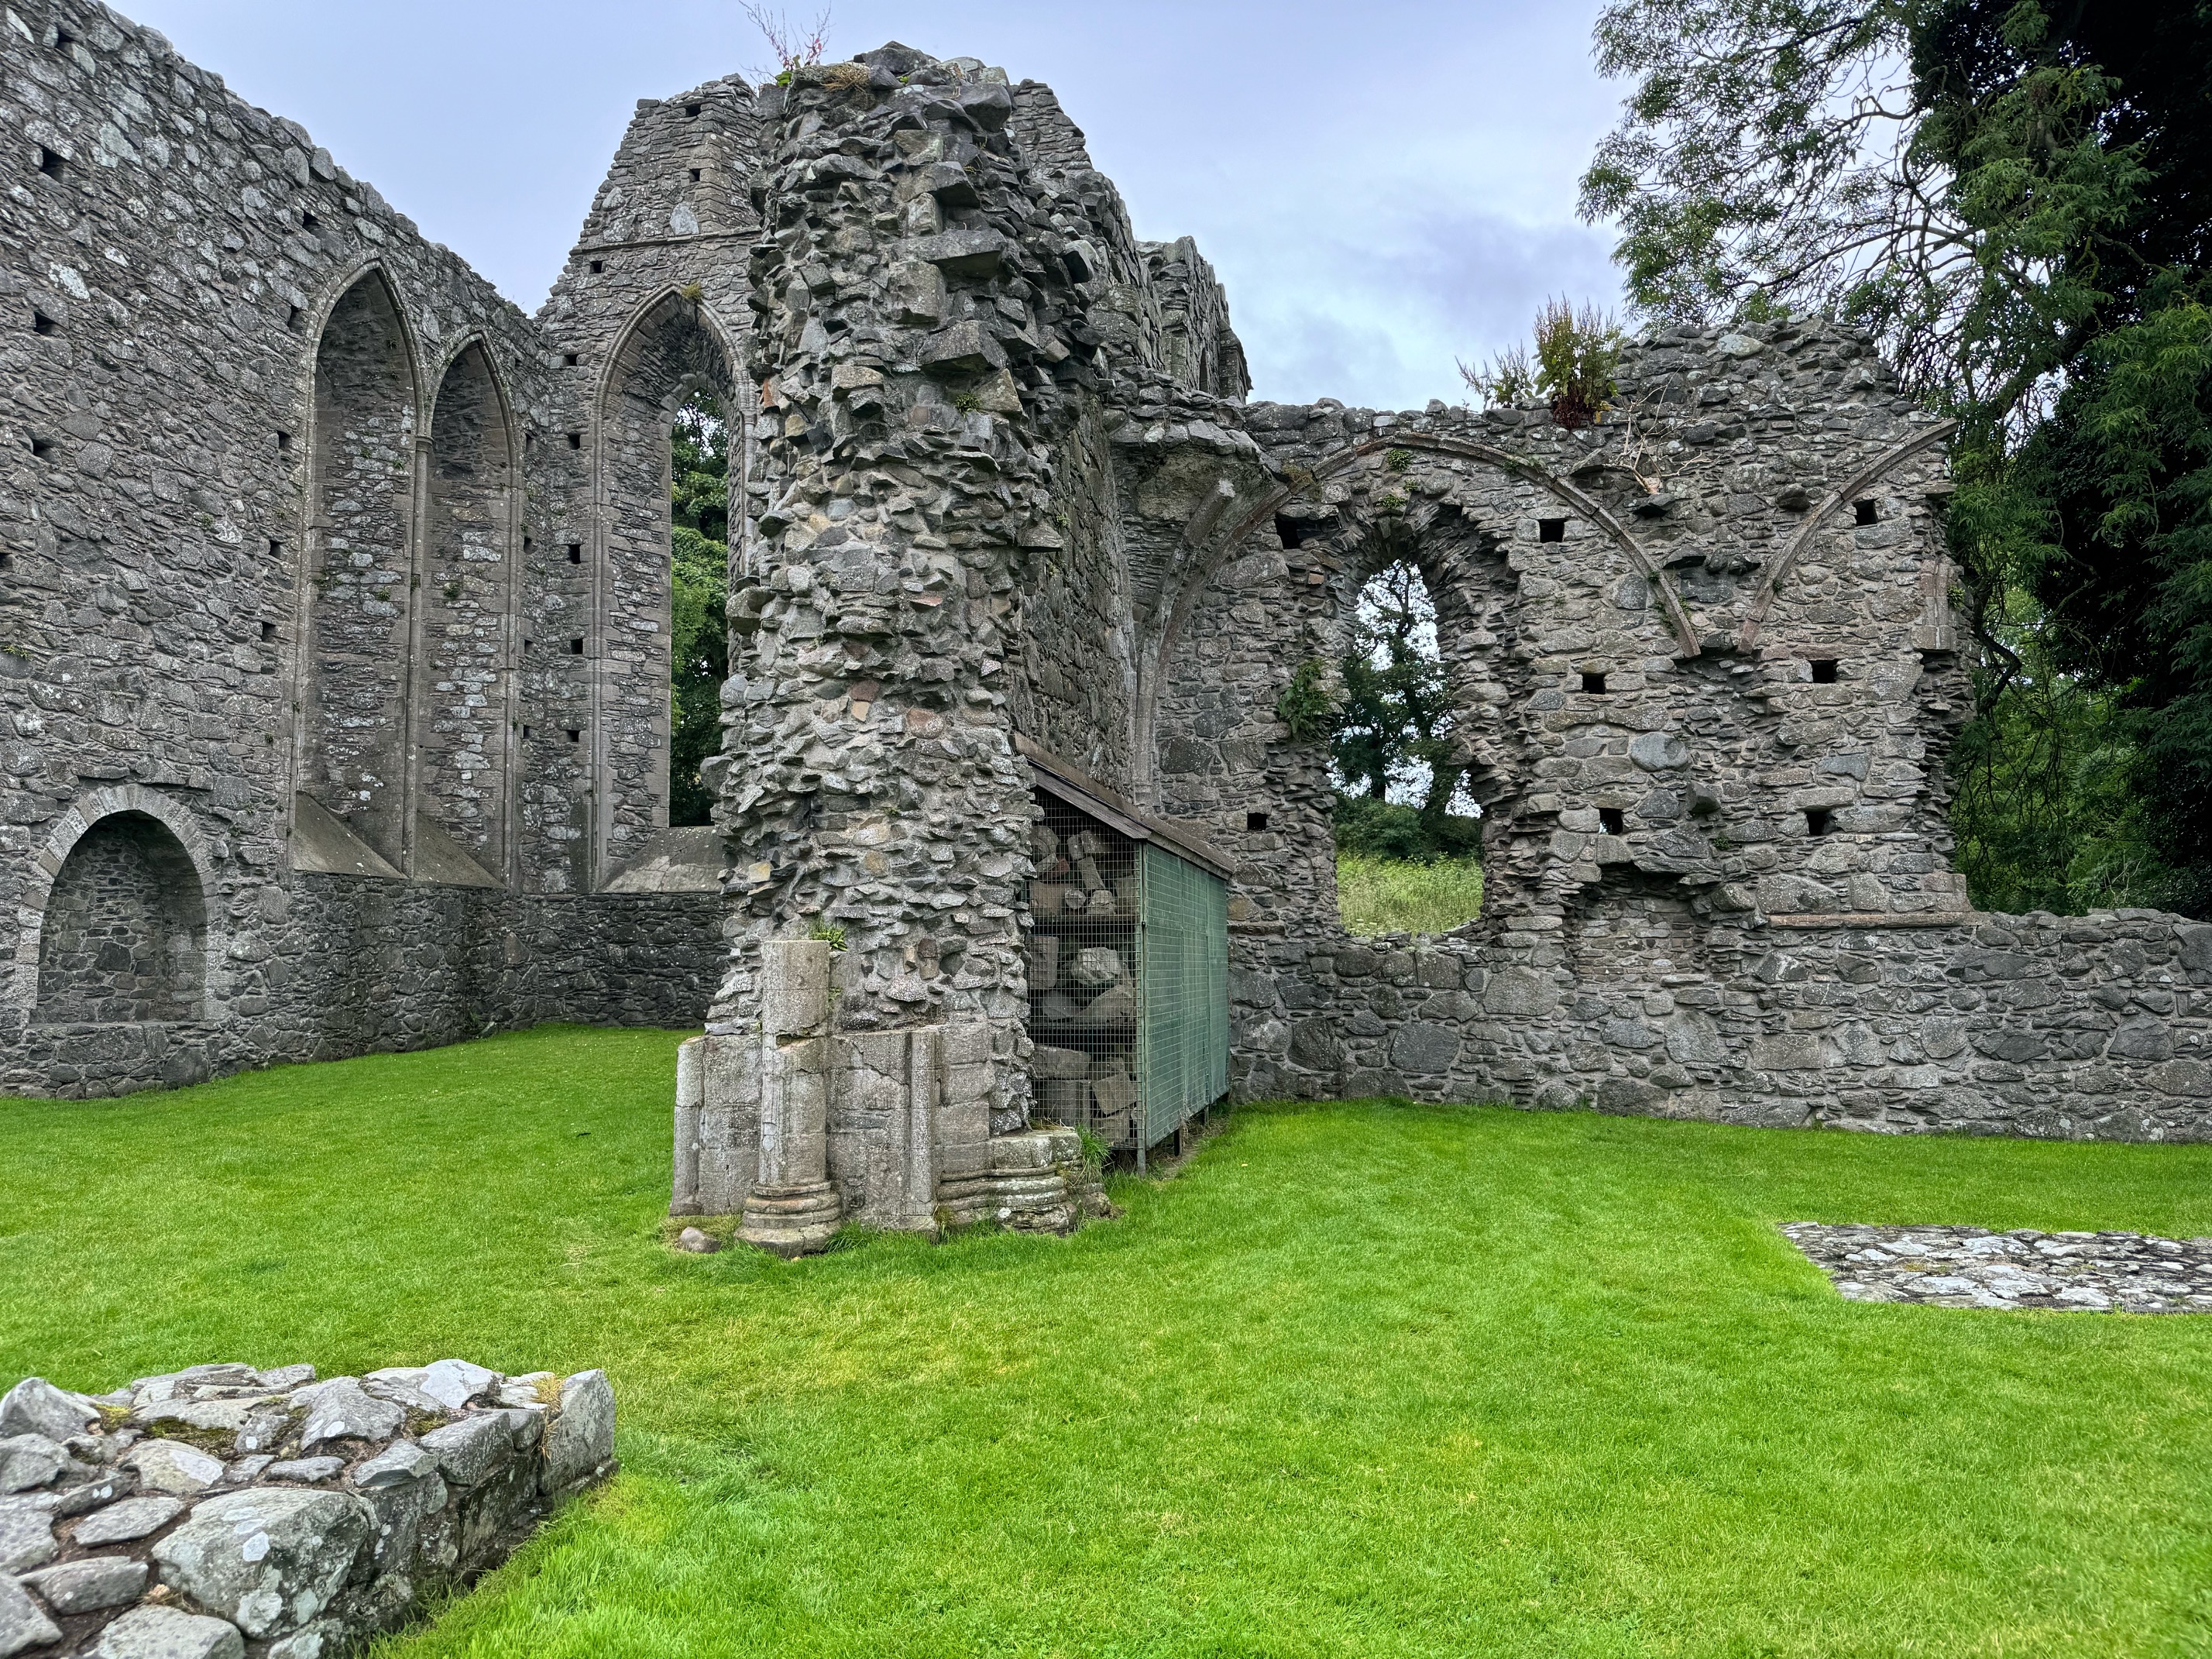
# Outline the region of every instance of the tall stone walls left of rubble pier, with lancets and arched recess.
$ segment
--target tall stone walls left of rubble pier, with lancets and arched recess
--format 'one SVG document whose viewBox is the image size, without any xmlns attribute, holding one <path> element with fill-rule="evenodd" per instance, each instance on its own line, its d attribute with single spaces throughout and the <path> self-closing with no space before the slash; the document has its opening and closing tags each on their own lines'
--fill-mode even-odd
<svg viewBox="0 0 2212 1659">
<path fill-rule="evenodd" d="M 750 93 L 639 113 L 531 321 L 148 29 L 18 4 L 0 64 L 0 1088 L 697 1022 L 710 832 L 604 891 L 666 818 L 668 453 L 602 411 L 741 378 Z"/>
</svg>

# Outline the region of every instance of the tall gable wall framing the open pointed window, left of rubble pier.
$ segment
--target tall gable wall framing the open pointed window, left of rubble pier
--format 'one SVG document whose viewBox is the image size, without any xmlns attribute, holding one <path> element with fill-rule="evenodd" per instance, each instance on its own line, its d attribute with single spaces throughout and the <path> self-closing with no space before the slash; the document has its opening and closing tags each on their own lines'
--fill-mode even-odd
<svg viewBox="0 0 2212 1659">
<path fill-rule="evenodd" d="M 524 823 L 544 891 L 604 885 L 668 823 L 668 418 L 692 392 L 721 403 L 743 557 L 759 166 L 743 80 L 641 100 L 538 312 L 555 436 L 526 681 L 555 741 L 531 752 Z"/>
</svg>

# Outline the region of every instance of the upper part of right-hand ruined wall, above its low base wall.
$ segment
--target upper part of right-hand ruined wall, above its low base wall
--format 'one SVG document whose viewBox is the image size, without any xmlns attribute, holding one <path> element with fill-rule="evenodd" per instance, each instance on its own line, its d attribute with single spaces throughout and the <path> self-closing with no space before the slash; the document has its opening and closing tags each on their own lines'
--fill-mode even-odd
<svg viewBox="0 0 2212 1659">
<path fill-rule="evenodd" d="M 1885 465 L 1933 422 L 1893 392 L 1865 400 L 1847 383 L 1865 347 L 1847 336 L 1736 338 L 1741 356 L 1708 343 L 1694 372 L 1681 343 L 1630 354 L 1630 418 L 1582 434 L 1537 409 L 1252 409 L 1292 482 L 1243 502 L 1248 533 L 1212 560 L 1250 577 L 1239 560 L 1296 542 L 1301 571 L 1261 599 L 1276 668 L 1245 703 L 1237 765 L 1228 739 L 1192 743 L 1183 710 L 1212 692 L 1214 646 L 1201 641 L 1250 635 L 1228 617 L 1254 597 L 1217 580 L 1192 606 L 1159 719 L 1177 743 L 1164 805 L 1210 810 L 1210 827 L 1234 836 L 1241 803 L 1270 794 L 1250 757 L 1285 737 L 1274 701 L 1292 672 L 1332 664 L 1367 575 L 1413 557 L 1460 608 L 1440 644 L 1491 807 L 1493 916 L 1555 909 L 1628 860 L 1690 876 L 1721 909 L 1955 907 L 1949 880 L 1924 885 L 1936 872 L 1898 852 L 1949 847 L 1940 748 L 1962 708 L 1942 586 L 1929 591 L 1942 575 L 1933 449 Z M 1708 418 L 1708 396 L 1732 418 Z M 1854 484 L 1869 469 L 1880 476 Z M 1849 502 L 1818 511 L 1845 487 L 1874 524 L 1858 526 Z M 1745 644 L 1763 575 L 1792 546 L 1796 575 Z M 1816 659 L 1838 664 L 1840 684 L 1812 684 Z M 1584 690 L 1586 675 L 1604 690 Z M 1710 805 L 1692 812 L 1699 801 Z M 1818 847 L 1812 807 L 1834 814 Z M 1624 814 L 1621 836 L 1601 834 L 1599 810 Z M 1871 880 L 1856 900 L 1854 876 Z"/>
</svg>

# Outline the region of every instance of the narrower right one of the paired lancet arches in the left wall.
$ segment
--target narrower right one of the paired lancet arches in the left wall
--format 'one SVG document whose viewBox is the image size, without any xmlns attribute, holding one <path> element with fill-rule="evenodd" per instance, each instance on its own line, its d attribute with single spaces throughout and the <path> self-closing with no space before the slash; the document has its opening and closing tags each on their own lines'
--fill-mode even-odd
<svg viewBox="0 0 2212 1659">
<path fill-rule="evenodd" d="M 442 834 L 500 880 L 515 814 L 518 478 L 513 407 L 482 338 L 469 338 L 447 358 L 429 425 L 416 602 L 416 841 Z"/>
</svg>

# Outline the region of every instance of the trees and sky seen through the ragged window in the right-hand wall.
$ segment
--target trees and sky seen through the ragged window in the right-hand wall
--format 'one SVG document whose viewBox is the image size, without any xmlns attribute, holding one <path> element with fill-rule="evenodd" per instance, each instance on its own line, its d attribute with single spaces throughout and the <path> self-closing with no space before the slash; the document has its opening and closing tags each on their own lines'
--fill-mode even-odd
<svg viewBox="0 0 2212 1659">
<path fill-rule="evenodd" d="M 1407 562 L 1360 591 L 1340 664 L 1329 761 L 1340 781 L 1336 841 L 1380 858 L 1471 854 L 1475 823 L 1451 810 L 1467 776 L 1451 741 L 1455 710 L 1436 650 L 1436 604 Z M 1418 796 L 1394 803 L 1391 792 Z"/>
</svg>

